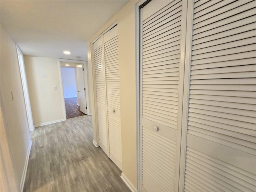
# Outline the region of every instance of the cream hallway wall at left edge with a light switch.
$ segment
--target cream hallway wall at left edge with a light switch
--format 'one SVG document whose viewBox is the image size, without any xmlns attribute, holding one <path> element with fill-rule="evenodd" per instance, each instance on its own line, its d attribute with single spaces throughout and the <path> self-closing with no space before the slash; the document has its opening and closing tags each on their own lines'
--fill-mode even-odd
<svg viewBox="0 0 256 192">
<path fill-rule="evenodd" d="M 16 191 L 21 191 L 26 174 L 31 139 L 16 45 L 2 26 L 0 47 L 1 111 L 4 121 L 4 127 L 1 126 L 1 129 L 5 128 L 6 132 Z M 13 92 L 14 100 L 12 100 L 11 92 Z"/>
</svg>

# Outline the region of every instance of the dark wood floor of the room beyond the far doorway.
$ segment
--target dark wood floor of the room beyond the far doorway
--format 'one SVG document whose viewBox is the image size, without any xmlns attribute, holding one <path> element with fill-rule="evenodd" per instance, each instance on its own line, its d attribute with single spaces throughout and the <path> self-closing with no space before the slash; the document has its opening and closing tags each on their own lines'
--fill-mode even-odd
<svg viewBox="0 0 256 192">
<path fill-rule="evenodd" d="M 67 119 L 85 115 L 80 111 L 80 107 L 77 105 L 76 97 L 65 98 L 65 107 Z"/>
</svg>

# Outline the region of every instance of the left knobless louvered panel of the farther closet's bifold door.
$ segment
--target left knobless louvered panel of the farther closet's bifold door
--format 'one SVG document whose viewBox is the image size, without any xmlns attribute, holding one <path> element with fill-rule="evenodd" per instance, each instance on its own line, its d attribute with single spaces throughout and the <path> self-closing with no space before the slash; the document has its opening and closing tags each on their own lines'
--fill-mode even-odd
<svg viewBox="0 0 256 192">
<path fill-rule="evenodd" d="M 102 55 L 102 37 L 100 37 L 96 42 L 94 42 L 93 51 L 99 146 L 108 155 L 109 152 L 106 115 L 106 88 L 104 77 L 104 61 Z"/>
</svg>

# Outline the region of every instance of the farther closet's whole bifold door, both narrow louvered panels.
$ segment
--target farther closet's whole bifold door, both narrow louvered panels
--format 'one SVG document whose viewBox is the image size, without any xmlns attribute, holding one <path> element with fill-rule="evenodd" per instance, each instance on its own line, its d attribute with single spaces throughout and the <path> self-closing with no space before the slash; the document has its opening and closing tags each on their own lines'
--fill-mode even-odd
<svg viewBox="0 0 256 192">
<path fill-rule="evenodd" d="M 122 170 L 118 28 L 93 44 L 99 145 Z"/>
</svg>

